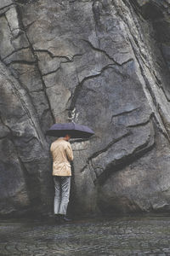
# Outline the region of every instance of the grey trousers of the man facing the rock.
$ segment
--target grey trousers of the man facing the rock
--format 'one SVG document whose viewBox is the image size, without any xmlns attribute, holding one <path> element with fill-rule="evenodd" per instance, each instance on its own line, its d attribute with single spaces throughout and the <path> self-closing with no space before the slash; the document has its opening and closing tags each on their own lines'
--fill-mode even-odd
<svg viewBox="0 0 170 256">
<path fill-rule="evenodd" d="M 66 214 L 71 189 L 71 176 L 54 176 L 54 214 Z"/>
</svg>

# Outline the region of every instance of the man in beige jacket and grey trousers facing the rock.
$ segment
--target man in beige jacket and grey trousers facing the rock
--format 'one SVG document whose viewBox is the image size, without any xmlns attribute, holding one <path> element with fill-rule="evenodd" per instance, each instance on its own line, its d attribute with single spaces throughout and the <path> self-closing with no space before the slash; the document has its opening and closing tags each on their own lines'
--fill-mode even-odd
<svg viewBox="0 0 170 256">
<path fill-rule="evenodd" d="M 69 140 L 71 135 L 59 137 L 51 144 L 50 151 L 53 156 L 54 176 L 54 214 L 57 220 L 69 221 L 66 218 L 66 209 L 71 189 L 71 161 L 73 153 Z"/>
</svg>

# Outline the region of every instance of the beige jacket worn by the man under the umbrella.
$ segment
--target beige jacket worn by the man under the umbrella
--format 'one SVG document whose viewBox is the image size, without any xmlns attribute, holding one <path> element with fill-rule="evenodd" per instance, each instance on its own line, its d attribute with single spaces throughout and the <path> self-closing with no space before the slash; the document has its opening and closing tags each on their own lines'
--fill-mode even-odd
<svg viewBox="0 0 170 256">
<path fill-rule="evenodd" d="M 71 163 L 73 153 L 71 143 L 59 137 L 51 144 L 50 152 L 53 156 L 53 175 L 71 176 Z"/>
</svg>

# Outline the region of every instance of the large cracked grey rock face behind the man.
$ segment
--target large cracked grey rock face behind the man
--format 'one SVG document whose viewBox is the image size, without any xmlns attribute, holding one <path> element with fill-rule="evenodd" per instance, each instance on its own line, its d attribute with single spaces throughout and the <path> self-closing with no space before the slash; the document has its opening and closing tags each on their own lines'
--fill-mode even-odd
<svg viewBox="0 0 170 256">
<path fill-rule="evenodd" d="M 170 209 L 169 0 L 0 3 L 0 213 L 53 212 L 50 143 L 68 118 L 70 211 Z"/>
</svg>

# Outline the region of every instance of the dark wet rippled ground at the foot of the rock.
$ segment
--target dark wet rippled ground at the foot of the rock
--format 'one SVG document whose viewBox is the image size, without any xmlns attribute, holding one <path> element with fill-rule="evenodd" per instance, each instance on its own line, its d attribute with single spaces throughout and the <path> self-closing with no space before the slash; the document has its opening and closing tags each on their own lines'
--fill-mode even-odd
<svg viewBox="0 0 170 256">
<path fill-rule="evenodd" d="M 0 255 L 170 255 L 170 217 L 3 219 Z"/>
</svg>

